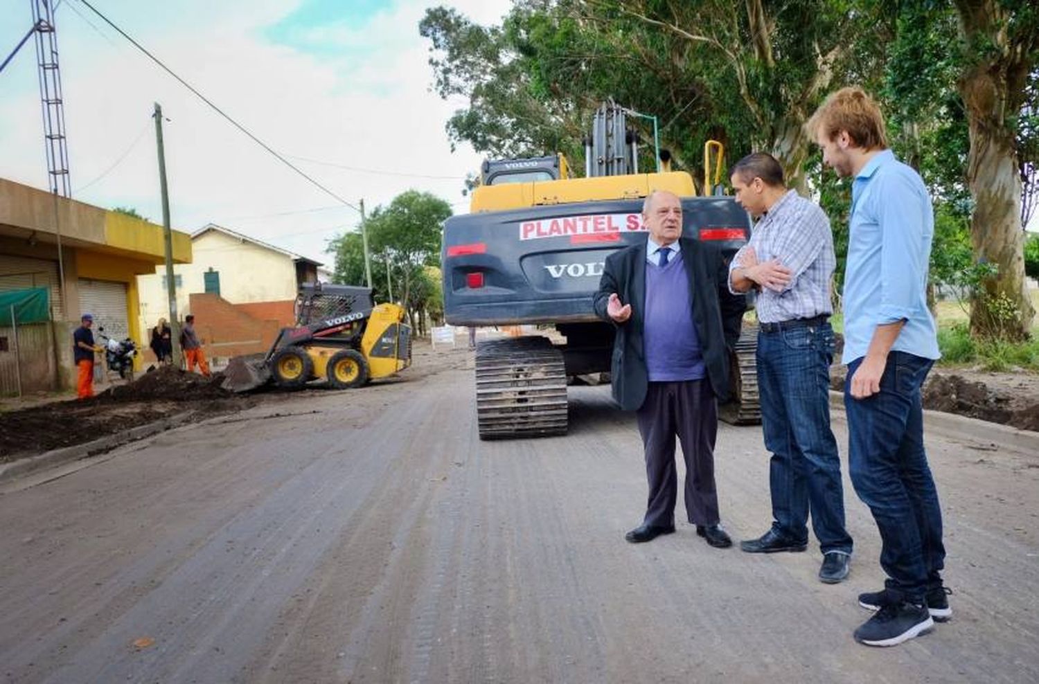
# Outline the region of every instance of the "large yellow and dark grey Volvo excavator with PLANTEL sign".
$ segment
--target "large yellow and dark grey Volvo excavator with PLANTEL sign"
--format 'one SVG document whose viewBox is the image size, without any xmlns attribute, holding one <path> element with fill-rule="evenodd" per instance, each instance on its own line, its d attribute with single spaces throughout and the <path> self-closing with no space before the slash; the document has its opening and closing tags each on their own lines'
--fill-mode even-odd
<svg viewBox="0 0 1039 684">
<path fill-rule="evenodd" d="M 731 255 L 750 239 L 750 217 L 721 189 L 724 151 L 708 141 L 703 182 L 670 168 L 638 167 L 630 110 L 613 102 L 595 113 L 585 138 L 584 177 L 560 155 L 488 160 L 469 214 L 444 224 L 444 314 L 456 326 L 554 327 L 481 341 L 476 350 L 476 411 L 481 439 L 565 434 L 568 378 L 610 371 L 613 326 L 592 307 L 606 257 L 644 244 L 643 199 L 655 190 L 682 198 L 683 235 L 712 241 Z M 560 343 L 559 337 L 565 339 Z M 745 328 L 731 355 L 735 423 L 761 420 L 754 372 L 756 330 Z"/>
</svg>

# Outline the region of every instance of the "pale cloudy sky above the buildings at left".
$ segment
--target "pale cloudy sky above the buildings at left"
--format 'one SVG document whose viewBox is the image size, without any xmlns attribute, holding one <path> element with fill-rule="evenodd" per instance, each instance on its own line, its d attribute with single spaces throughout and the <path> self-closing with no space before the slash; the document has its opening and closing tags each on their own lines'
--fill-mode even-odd
<svg viewBox="0 0 1039 684">
<path fill-rule="evenodd" d="M 464 102 L 432 90 L 425 9 L 494 24 L 509 0 L 88 0 L 181 78 L 326 188 L 371 212 L 431 192 L 467 211 L 482 157 L 451 151 L 445 125 Z M 0 59 L 32 25 L 0 0 Z M 154 103 L 162 105 L 170 219 L 217 223 L 325 263 L 359 215 L 249 140 L 90 11 L 55 13 L 73 198 L 162 222 Z M 0 72 L 0 177 L 48 188 L 33 39 Z M 350 169 L 342 167 L 351 167 Z"/>
</svg>

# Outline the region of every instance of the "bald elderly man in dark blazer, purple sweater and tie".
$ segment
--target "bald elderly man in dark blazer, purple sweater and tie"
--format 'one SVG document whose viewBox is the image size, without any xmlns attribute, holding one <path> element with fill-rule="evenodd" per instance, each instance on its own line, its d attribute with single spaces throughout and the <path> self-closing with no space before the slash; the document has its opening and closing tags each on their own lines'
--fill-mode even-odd
<svg viewBox="0 0 1039 684">
<path fill-rule="evenodd" d="M 595 313 L 616 326 L 613 398 L 636 411 L 649 497 L 642 525 L 625 539 L 674 531 L 674 440 L 686 459 L 686 513 L 711 546 L 732 541 L 719 524 L 714 476 L 718 402 L 728 394 L 728 348 L 746 301 L 728 291 L 728 266 L 707 243 L 682 237 L 682 201 L 666 191 L 645 199 L 646 242 L 614 252 L 595 295 Z"/>
</svg>

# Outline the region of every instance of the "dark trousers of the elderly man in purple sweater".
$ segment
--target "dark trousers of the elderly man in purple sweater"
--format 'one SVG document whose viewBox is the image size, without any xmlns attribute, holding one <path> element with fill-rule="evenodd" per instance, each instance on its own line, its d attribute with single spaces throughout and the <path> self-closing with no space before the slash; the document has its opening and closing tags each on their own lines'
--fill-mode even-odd
<svg viewBox="0 0 1039 684">
<path fill-rule="evenodd" d="M 677 474 L 674 438 L 686 459 L 686 514 L 696 525 L 719 521 L 714 480 L 714 445 L 718 434 L 718 403 L 707 380 L 650 382 L 636 412 L 645 447 L 649 498 L 645 524 L 674 524 Z"/>
</svg>

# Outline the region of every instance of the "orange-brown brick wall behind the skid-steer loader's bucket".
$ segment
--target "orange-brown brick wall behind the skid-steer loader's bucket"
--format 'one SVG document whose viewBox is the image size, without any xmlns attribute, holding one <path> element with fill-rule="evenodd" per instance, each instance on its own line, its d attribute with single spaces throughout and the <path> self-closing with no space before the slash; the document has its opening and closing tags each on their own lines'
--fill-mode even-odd
<svg viewBox="0 0 1039 684">
<path fill-rule="evenodd" d="M 283 327 L 291 324 L 284 318 L 285 306 L 291 312 L 294 302 L 262 302 L 258 304 L 232 304 L 213 294 L 192 294 L 189 306 L 195 317 L 195 331 L 203 340 L 206 356 L 210 359 L 228 359 L 243 354 L 262 354 L 274 344 Z M 258 308 L 259 306 L 259 308 Z M 270 311 L 278 318 L 258 318 Z M 282 314 L 278 314 L 282 311 Z"/>
</svg>

